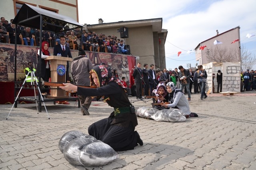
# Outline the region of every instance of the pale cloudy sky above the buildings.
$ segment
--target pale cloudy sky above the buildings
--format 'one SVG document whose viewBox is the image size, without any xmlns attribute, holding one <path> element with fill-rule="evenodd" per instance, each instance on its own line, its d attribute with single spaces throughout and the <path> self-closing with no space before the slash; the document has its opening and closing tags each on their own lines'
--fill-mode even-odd
<svg viewBox="0 0 256 170">
<path fill-rule="evenodd" d="M 78 0 L 78 12 L 81 24 L 98 24 L 99 18 L 104 23 L 162 18 L 162 29 L 168 30 L 167 69 L 196 66 L 195 54 L 187 51 L 215 36 L 216 29 L 223 33 L 240 26 L 241 45 L 256 55 L 256 36 L 246 37 L 247 33 L 256 35 L 256 0 Z"/>
</svg>

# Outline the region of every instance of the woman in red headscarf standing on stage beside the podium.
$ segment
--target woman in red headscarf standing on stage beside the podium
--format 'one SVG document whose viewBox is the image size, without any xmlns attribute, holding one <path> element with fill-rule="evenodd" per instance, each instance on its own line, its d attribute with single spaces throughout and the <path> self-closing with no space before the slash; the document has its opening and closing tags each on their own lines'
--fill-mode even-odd
<svg viewBox="0 0 256 170">
<path fill-rule="evenodd" d="M 40 49 L 38 49 L 37 52 L 37 70 L 39 70 L 39 60 L 41 59 L 41 78 L 44 81 L 49 81 L 49 78 L 51 77 L 51 71 L 50 71 L 50 63 L 46 59 L 48 56 L 50 56 L 50 52 L 48 51 L 49 43 L 47 41 L 42 42 L 42 55 L 40 56 Z M 38 76 L 38 75 L 37 75 Z M 38 76 L 39 77 L 39 76 Z M 48 88 L 48 87 L 45 87 Z M 42 90 L 42 96 L 46 96 L 50 90 Z"/>
</svg>

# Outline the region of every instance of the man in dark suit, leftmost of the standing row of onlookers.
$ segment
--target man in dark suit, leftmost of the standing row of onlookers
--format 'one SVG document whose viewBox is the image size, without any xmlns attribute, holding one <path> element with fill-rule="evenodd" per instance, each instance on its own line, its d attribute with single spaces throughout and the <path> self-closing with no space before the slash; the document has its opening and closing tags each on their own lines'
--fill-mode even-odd
<svg viewBox="0 0 256 170">
<path fill-rule="evenodd" d="M 140 66 L 141 66 L 141 63 L 138 63 L 132 76 L 134 77 L 134 81 L 136 84 L 136 97 L 137 99 L 142 100 L 142 70 Z"/>
</svg>

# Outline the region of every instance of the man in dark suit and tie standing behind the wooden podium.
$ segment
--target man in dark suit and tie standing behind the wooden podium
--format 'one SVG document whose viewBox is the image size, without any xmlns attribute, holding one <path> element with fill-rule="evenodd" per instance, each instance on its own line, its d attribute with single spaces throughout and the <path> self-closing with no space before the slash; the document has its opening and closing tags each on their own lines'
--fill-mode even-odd
<svg viewBox="0 0 256 170">
<path fill-rule="evenodd" d="M 66 38 L 65 36 L 60 36 L 60 44 L 55 45 L 53 49 L 53 55 L 57 56 L 57 54 L 61 54 L 61 57 L 69 57 L 72 58 L 69 47 L 65 46 Z M 67 69 L 66 69 L 66 81 L 69 81 L 69 63 L 67 61 Z M 67 101 L 58 101 L 58 104 L 70 104 Z"/>
</svg>

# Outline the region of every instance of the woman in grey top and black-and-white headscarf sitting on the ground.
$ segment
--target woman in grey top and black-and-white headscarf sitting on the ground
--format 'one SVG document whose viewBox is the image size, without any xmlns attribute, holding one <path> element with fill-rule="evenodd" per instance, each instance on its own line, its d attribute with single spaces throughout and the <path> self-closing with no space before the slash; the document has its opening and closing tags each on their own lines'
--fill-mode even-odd
<svg viewBox="0 0 256 170">
<path fill-rule="evenodd" d="M 166 90 L 168 92 L 168 94 L 166 95 L 166 100 L 170 104 L 165 104 L 163 102 L 162 106 L 164 106 L 166 108 L 168 108 L 168 107 L 178 108 L 178 109 L 185 112 L 186 118 L 198 117 L 198 115 L 196 113 L 193 113 L 193 112 L 190 111 L 189 104 L 188 104 L 188 99 L 182 93 L 182 91 L 176 89 L 176 86 L 173 82 L 168 82 L 166 84 Z"/>
</svg>

